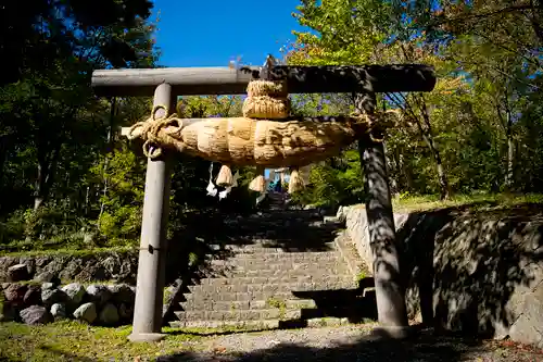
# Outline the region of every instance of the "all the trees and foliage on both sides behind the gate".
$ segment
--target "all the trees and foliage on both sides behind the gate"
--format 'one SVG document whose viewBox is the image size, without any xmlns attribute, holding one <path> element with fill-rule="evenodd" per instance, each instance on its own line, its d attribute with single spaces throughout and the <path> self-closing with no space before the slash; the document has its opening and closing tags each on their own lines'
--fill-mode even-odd
<svg viewBox="0 0 543 362">
<path fill-rule="evenodd" d="M 152 100 L 100 99 L 88 85 L 94 68 L 156 65 L 151 4 L 105 0 L 99 12 L 88 0 L 22 4 L 0 9 L 8 41 L 0 53 L 16 53 L 3 57 L 13 72 L 7 68 L 0 82 L 0 247 L 134 246 L 147 161 L 141 145 L 128 146 L 117 129 L 147 117 Z M 379 110 L 395 111 L 390 115 L 395 127 L 384 141 L 396 200 L 440 195 L 454 203 L 462 195 L 530 195 L 543 187 L 541 17 L 529 21 L 509 5 L 505 0 L 302 1 L 294 16 L 310 30 L 294 33 L 285 61 L 434 66 L 433 91 L 378 95 Z M 539 8 L 527 7 L 541 15 Z M 294 114 L 316 116 L 352 114 L 356 97 L 291 99 Z M 240 115 L 241 107 L 241 97 L 182 97 L 177 112 L 226 117 Z M 168 237 L 188 234 L 189 213 L 254 211 L 255 195 L 247 189 L 254 167 L 233 168 L 240 172 L 239 187 L 219 200 L 206 196 L 210 162 L 173 157 Z M 218 168 L 215 164 L 212 179 Z M 313 165 L 310 182 L 293 196 L 295 203 L 362 202 L 356 145 Z M 198 265 L 204 248 L 191 247 L 185 250 L 187 263 Z"/>
</svg>

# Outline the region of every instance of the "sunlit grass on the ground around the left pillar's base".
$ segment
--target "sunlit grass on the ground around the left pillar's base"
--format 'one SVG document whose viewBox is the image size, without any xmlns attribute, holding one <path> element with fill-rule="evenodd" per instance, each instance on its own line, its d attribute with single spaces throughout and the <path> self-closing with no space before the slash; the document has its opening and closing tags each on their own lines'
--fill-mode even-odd
<svg viewBox="0 0 543 362">
<path fill-rule="evenodd" d="M 204 337 L 164 328 L 156 344 L 132 344 L 130 326 L 96 327 L 74 321 L 40 326 L 0 323 L 0 361 L 152 361 L 159 355 L 194 350 Z"/>
</svg>

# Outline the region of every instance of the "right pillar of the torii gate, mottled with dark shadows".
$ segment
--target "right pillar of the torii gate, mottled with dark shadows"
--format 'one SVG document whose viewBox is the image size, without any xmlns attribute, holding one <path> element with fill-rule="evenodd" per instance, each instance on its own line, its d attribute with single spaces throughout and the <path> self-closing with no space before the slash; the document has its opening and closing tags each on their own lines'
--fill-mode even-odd
<svg viewBox="0 0 543 362">
<path fill-rule="evenodd" d="M 357 97 L 357 109 L 365 112 L 372 122 L 376 97 L 367 92 Z M 374 129 L 374 139 L 381 139 L 379 130 Z M 374 257 L 374 279 L 376 287 L 379 328 L 375 332 L 387 337 L 404 338 L 408 335 L 405 292 L 400 277 L 400 262 L 396 250 L 394 217 L 387 164 L 382 141 L 366 136 L 358 142 L 363 160 L 364 187 L 366 189 L 366 213 L 369 241 Z"/>
</svg>

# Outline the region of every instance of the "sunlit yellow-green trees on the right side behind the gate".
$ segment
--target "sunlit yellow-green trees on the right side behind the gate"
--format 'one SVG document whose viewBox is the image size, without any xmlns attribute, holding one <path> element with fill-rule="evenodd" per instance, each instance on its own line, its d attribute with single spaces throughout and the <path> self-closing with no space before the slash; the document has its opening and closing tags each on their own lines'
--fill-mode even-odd
<svg viewBox="0 0 543 362">
<path fill-rule="evenodd" d="M 431 5 L 303 1 L 294 16 L 312 32 L 295 33 L 286 59 L 290 64 L 434 66 L 438 83 L 432 92 L 378 98 L 379 109 L 395 109 L 399 114 L 397 126 L 386 137 L 393 194 L 538 191 L 543 171 L 543 112 L 535 101 L 541 87 L 539 18 L 528 24 L 521 11 L 508 8 L 506 1 L 458 3 L 464 7 L 438 0 Z M 540 11 L 531 7 L 534 14 Z M 502 15 L 504 20 L 497 21 Z M 349 95 L 336 99 L 301 95 L 293 101 L 299 113 L 308 115 L 353 110 Z M 330 162 L 319 164 L 312 173 L 314 185 L 296 199 L 341 203 L 344 189 L 357 189 L 349 179 L 355 180 Z"/>
</svg>

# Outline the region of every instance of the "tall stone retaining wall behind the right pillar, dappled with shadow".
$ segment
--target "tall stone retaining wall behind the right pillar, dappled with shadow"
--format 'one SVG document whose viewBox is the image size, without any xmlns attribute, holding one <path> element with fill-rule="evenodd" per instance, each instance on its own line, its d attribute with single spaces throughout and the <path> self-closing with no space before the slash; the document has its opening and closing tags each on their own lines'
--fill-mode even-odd
<svg viewBox="0 0 543 362">
<path fill-rule="evenodd" d="M 371 265 L 364 207 L 341 208 Z M 394 215 L 412 317 L 543 347 L 543 210 L 451 208 Z"/>
</svg>

